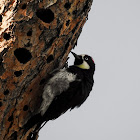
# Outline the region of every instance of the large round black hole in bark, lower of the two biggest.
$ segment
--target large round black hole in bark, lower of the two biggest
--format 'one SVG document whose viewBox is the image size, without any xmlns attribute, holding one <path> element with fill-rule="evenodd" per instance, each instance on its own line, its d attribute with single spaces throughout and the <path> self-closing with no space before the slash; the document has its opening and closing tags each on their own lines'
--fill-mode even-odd
<svg viewBox="0 0 140 140">
<path fill-rule="evenodd" d="M 23 64 L 27 63 L 32 58 L 31 53 L 25 48 L 16 49 L 14 51 L 14 54 L 15 54 L 17 60 Z"/>
</svg>

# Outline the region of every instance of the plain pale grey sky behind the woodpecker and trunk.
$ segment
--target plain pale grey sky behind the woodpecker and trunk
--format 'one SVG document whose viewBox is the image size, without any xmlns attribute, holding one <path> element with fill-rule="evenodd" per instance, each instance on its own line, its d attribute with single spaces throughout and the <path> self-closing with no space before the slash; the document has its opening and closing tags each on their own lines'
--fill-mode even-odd
<svg viewBox="0 0 140 140">
<path fill-rule="evenodd" d="M 94 88 L 39 140 L 140 140 L 140 0 L 94 0 L 74 52 L 94 58 Z"/>
</svg>

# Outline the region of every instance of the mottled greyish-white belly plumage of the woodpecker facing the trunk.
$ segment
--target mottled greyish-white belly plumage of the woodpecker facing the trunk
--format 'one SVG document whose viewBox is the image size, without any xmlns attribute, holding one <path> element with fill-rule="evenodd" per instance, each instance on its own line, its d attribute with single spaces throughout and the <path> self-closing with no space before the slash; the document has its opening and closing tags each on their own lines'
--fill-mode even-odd
<svg viewBox="0 0 140 140">
<path fill-rule="evenodd" d="M 54 97 L 66 91 L 75 79 L 76 75 L 61 69 L 48 81 L 42 94 L 41 115 L 44 115 Z"/>
</svg>

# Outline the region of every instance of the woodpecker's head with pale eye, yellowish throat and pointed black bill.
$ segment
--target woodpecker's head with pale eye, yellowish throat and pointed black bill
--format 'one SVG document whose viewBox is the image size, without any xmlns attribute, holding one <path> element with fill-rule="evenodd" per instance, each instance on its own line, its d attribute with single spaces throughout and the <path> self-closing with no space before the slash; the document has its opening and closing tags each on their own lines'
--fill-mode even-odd
<svg viewBox="0 0 140 140">
<path fill-rule="evenodd" d="M 95 63 L 91 56 L 85 54 L 77 55 L 74 52 L 71 53 L 75 57 L 75 61 L 74 61 L 75 66 L 84 70 L 92 70 L 92 71 L 95 70 Z"/>
</svg>

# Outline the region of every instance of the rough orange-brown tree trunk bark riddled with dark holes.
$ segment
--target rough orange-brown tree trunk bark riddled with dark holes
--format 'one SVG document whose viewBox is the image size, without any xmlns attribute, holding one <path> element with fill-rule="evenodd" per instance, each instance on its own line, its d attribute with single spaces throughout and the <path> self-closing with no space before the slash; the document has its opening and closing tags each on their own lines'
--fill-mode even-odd
<svg viewBox="0 0 140 140">
<path fill-rule="evenodd" d="M 65 64 L 92 0 L 0 1 L 0 139 L 26 140 L 48 74 Z M 37 139 L 37 138 L 36 138 Z"/>
</svg>

